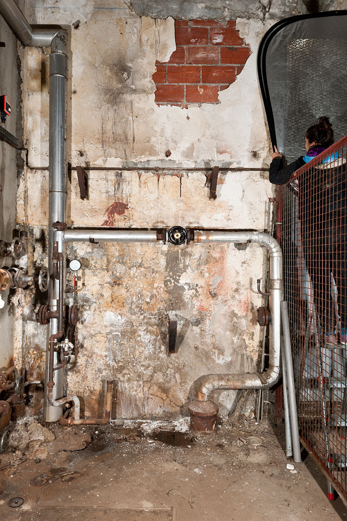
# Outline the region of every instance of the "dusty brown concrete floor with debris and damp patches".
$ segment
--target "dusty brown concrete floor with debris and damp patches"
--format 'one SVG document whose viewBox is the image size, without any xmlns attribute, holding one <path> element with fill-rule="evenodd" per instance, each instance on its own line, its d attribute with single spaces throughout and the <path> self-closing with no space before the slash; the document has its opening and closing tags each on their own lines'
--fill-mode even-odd
<svg viewBox="0 0 347 521">
<path fill-rule="evenodd" d="M 287 470 L 282 429 L 241 420 L 195 440 L 186 420 L 178 424 L 166 425 L 176 432 L 148 422 L 50 426 L 53 442 L 1 455 L 3 519 L 347 519 L 340 499 L 327 500 L 326 481 L 310 458 L 295 465 L 296 473 Z M 250 436 L 261 439 L 256 449 Z M 17 497 L 24 503 L 11 508 Z"/>
</svg>

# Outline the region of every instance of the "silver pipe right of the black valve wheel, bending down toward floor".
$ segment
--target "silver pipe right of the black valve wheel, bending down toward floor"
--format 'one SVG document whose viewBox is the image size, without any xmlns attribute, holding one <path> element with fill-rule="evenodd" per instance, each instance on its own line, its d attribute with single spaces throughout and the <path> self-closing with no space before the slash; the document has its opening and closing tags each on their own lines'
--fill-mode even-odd
<svg viewBox="0 0 347 521">
<path fill-rule="evenodd" d="M 278 242 L 267 233 L 256 231 L 194 231 L 194 242 L 255 242 L 269 252 L 270 285 L 269 308 L 271 313 L 269 332 L 269 368 L 264 373 L 206 375 L 200 379 L 197 400 L 208 401 L 216 389 L 261 389 L 272 387 L 280 373 L 280 325 L 283 300 L 282 252 Z"/>
</svg>

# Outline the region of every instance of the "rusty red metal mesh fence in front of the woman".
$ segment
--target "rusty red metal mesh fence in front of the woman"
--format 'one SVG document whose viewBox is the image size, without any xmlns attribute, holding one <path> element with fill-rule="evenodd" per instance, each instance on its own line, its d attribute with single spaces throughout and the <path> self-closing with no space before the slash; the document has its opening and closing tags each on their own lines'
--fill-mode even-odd
<svg viewBox="0 0 347 521">
<path fill-rule="evenodd" d="M 279 189 L 300 436 L 347 498 L 347 136 Z"/>
</svg>

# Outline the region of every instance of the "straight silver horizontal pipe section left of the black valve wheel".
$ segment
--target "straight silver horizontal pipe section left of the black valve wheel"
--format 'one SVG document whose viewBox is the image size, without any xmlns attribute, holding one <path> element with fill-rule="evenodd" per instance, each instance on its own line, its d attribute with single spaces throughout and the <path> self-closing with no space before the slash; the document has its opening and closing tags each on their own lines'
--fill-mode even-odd
<svg viewBox="0 0 347 521">
<path fill-rule="evenodd" d="M 81 228 L 65 230 L 66 242 L 157 242 L 156 230 L 110 230 L 97 228 Z"/>
</svg>

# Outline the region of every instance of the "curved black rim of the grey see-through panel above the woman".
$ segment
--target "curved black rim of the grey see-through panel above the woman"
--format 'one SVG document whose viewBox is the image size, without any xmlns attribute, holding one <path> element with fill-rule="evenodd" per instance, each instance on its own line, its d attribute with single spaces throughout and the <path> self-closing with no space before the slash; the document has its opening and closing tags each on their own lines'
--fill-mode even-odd
<svg viewBox="0 0 347 521">
<path fill-rule="evenodd" d="M 259 48 L 258 48 L 258 54 L 256 57 L 256 67 L 258 71 L 258 81 L 260 85 L 260 90 L 263 97 L 263 103 L 265 108 L 265 114 L 267 118 L 267 124 L 270 132 L 270 138 L 272 142 L 273 148 L 277 146 L 277 139 L 276 139 L 276 130 L 275 130 L 275 121 L 274 121 L 274 114 L 272 110 L 272 105 L 269 97 L 269 91 L 267 86 L 267 78 L 266 78 L 266 51 L 267 48 L 271 42 L 271 40 L 274 38 L 274 36 L 284 27 L 289 26 L 291 23 L 294 23 L 296 21 L 300 20 L 306 20 L 309 18 L 323 18 L 328 16 L 340 16 L 340 15 L 347 15 L 347 10 L 342 9 L 340 11 L 326 11 L 324 13 L 314 13 L 314 14 L 307 14 L 307 15 L 298 15 L 298 16 L 291 16 L 289 18 L 285 18 L 284 20 L 280 20 L 279 22 L 275 23 L 274 26 L 272 26 L 263 36 L 262 41 L 260 42 Z"/>
</svg>

